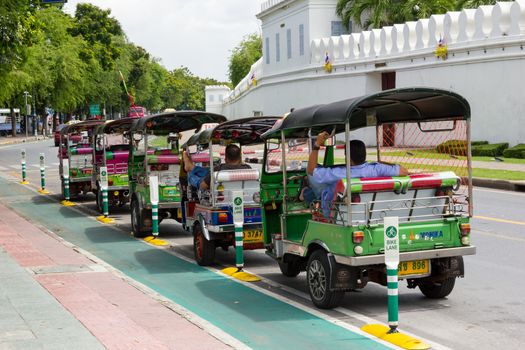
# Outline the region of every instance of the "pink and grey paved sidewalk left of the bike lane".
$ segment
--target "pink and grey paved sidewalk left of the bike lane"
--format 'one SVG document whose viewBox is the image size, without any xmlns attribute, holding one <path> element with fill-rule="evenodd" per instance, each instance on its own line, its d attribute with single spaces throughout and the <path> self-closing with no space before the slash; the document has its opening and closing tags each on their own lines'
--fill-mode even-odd
<svg viewBox="0 0 525 350">
<path fill-rule="evenodd" d="M 0 204 L 0 349 L 227 349 Z"/>
</svg>

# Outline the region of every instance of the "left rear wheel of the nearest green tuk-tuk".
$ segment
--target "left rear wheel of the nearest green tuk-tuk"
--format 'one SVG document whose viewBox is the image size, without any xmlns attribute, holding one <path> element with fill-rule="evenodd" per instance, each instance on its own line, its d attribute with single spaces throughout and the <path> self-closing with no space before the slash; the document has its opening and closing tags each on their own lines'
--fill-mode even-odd
<svg viewBox="0 0 525 350">
<path fill-rule="evenodd" d="M 328 256 L 322 249 L 310 255 L 306 267 L 306 284 L 310 299 L 320 309 L 332 309 L 339 306 L 345 292 L 331 291 L 329 289 L 332 276 Z"/>
</svg>

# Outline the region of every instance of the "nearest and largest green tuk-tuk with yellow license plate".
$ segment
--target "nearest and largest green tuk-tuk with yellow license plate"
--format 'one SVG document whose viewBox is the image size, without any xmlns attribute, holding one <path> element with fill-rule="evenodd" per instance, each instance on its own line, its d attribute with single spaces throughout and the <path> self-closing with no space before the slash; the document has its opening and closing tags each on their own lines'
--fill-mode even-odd
<svg viewBox="0 0 525 350">
<path fill-rule="evenodd" d="M 332 138 L 318 166 L 343 167 L 345 175 L 306 203 L 308 157 L 322 131 Z M 409 288 L 442 298 L 464 276 L 463 256 L 476 248 L 469 237 L 470 107 L 463 97 L 430 88 L 387 90 L 296 109 L 263 138 L 267 254 L 286 276 L 306 270 L 317 307 L 336 307 L 346 291 L 367 282 L 387 284 L 383 231 L 389 216 L 399 220 L 398 276 Z M 351 138 L 375 145 L 367 150 L 369 161 L 399 164 L 410 175 L 353 178 Z"/>
</svg>

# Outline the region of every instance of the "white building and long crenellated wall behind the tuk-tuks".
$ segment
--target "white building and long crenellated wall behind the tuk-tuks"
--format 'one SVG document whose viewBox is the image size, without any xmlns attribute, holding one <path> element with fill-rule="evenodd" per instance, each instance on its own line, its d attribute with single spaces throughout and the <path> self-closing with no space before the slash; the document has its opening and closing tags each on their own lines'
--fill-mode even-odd
<svg viewBox="0 0 525 350">
<path fill-rule="evenodd" d="M 525 0 L 351 34 L 336 3 L 264 3 L 257 15 L 263 57 L 235 89 L 207 87 L 206 109 L 232 119 L 282 115 L 387 88 L 429 86 L 468 99 L 474 140 L 525 142 Z M 436 56 L 440 39 L 444 57 Z"/>
</svg>

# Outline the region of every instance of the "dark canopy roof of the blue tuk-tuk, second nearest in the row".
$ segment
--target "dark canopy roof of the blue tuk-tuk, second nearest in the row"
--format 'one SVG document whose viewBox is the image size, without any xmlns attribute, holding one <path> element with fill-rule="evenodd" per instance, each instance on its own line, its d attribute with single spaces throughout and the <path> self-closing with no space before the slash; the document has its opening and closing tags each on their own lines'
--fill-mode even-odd
<svg viewBox="0 0 525 350">
<path fill-rule="evenodd" d="M 261 135 L 272 128 L 279 117 L 250 117 L 235 119 L 217 125 L 213 129 L 203 130 L 192 135 L 183 147 L 207 145 L 210 140 L 233 141 L 241 146 L 262 143 Z"/>
</svg>

